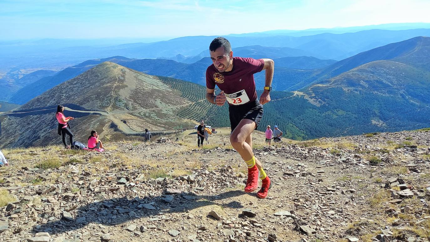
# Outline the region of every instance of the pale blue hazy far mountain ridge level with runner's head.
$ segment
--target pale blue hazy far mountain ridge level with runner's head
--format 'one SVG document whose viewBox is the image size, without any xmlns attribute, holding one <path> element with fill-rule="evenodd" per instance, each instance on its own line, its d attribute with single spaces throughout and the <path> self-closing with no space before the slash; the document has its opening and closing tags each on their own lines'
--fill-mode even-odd
<svg viewBox="0 0 430 242">
<path fill-rule="evenodd" d="M 341 60 L 359 52 L 416 36 L 430 36 L 430 29 L 399 31 L 374 29 L 355 33 L 324 33 L 301 37 L 262 35 L 228 37 L 228 40 L 232 46 L 289 47 L 313 53 L 312 56 L 316 58 Z M 150 44 L 121 45 L 116 48 L 101 49 L 98 52 L 104 56 L 123 55 L 129 58 L 157 58 L 178 54 L 192 56 L 208 49 L 209 43 L 215 37 L 217 36 L 180 37 Z"/>
</svg>

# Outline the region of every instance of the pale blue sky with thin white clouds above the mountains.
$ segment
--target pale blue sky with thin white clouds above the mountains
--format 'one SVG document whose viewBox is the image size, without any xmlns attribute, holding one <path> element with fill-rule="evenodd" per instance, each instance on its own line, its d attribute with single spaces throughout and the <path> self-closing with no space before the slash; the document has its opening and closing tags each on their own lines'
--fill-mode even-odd
<svg viewBox="0 0 430 242">
<path fill-rule="evenodd" d="M 430 22 L 430 0 L 0 0 L 2 40 L 170 38 Z"/>
</svg>

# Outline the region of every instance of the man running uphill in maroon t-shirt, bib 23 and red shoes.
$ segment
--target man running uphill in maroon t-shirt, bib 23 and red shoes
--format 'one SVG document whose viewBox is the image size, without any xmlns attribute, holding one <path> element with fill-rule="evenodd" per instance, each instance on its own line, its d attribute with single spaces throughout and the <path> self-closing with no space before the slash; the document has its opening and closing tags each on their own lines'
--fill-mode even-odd
<svg viewBox="0 0 430 242">
<path fill-rule="evenodd" d="M 223 37 L 212 40 L 209 52 L 213 64 L 206 70 L 206 99 L 218 106 L 228 102 L 232 130 L 230 142 L 248 165 L 245 192 L 258 188 L 259 177 L 262 186 L 257 196 L 265 198 L 271 182 L 252 153 L 252 132 L 257 129 L 263 116 L 263 104 L 270 101 L 274 62 L 271 59 L 233 57 L 230 42 Z M 258 101 L 254 74 L 262 70 L 266 70 L 266 86 Z M 216 96 L 215 85 L 221 89 Z"/>
</svg>

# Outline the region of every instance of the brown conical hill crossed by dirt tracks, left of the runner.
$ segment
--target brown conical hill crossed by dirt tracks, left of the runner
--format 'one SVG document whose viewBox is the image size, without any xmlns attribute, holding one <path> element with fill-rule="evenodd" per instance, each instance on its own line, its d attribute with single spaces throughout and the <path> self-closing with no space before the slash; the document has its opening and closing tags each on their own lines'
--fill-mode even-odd
<svg viewBox="0 0 430 242">
<path fill-rule="evenodd" d="M 217 108 L 206 102 L 205 94 L 203 86 L 150 76 L 106 61 L 33 98 L 20 110 L 46 109 L 58 104 L 89 110 L 65 111 L 67 116 L 77 117 L 71 126 L 75 139 L 82 141 L 92 129 L 108 135 L 137 134 L 145 128 L 169 130 L 178 125 L 194 126 L 193 119 L 226 112 L 226 107 Z M 208 115 L 209 110 L 212 111 Z M 7 116 L 1 123 L 2 145 L 28 147 L 58 143 L 58 138 L 52 139 L 57 137 L 54 113 L 55 108 Z M 29 125 L 34 127 L 26 129 Z"/>
</svg>

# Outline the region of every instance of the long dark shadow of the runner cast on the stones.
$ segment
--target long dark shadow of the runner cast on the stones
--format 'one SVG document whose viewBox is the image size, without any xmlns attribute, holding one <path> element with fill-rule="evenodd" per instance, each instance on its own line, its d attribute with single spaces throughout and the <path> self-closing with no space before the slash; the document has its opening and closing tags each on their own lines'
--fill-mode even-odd
<svg viewBox="0 0 430 242">
<path fill-rule="evenodd" d="M 159 219 L 163 220 L 163 216 L 168 217 L 168 214 L 193 210 L 208 205 L 243 208 L 240 202 L 237 201 L 229 202 L 227 204 L 218 204 L 216 202 L 217 200 L 241 196 L 243 194 L 246 193 L 241 190 L 233 190 L 214 196 L 197 196 L 190 193 L 178 193 L 155 197 L 135 197 L 133 199 L 129 199 L 126 196 L 121 198 L 105 199 L 79 207 L 77 208 L 76 213 L 74 213 L 74 210 L 65 208 L 64 211 L 66 212 L 61 212 L 60 219 L 57 221 L 49 221 L 48 224 L 34 227 L 33 233 L 64 233 L 80 229 L 91 223 L 113 226 L 141 217 L 150 216 L 155 216 L 152 218 L 155 219 L 154 221 L 157 221 Z M 159 214 L 160 212 L 163 214 Z"/>
</svg>

